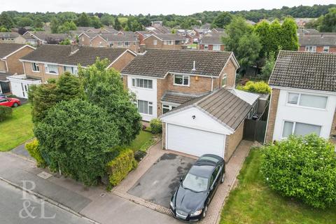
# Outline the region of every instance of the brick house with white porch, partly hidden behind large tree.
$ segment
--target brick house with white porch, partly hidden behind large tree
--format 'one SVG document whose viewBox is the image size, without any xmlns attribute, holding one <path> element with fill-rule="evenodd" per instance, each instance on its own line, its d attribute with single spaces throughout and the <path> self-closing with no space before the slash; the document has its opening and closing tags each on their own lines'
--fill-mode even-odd
<svg viewBox="0 0 336 224">
<path fill-rule="evenodd" d="M 20 59 L 25 73 L 7 77 L 13 94 L 27 98 L 29 85 L 45 83 L 58 78 L 65 71 L 78 73 L 82 67 L 94 64 L 97 58 L 109 59 L 109 68 L 121 71 L 137 54 L 122 48 L 93 48 L 78 45 L 41 45 Z M 23 89 L 23 90 L 22 90 Z"/>
</svg>

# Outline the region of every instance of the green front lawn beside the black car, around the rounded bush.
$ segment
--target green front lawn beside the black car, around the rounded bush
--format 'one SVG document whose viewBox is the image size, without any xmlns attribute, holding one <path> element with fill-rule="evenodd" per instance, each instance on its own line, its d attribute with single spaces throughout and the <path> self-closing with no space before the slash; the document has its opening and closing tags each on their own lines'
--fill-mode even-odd
<svg viewBox="0 0 336 224">
<path fill-rule="evenodd" d="M 318 210 L 281 197 L 262 181 L 260 151 L 251 151 L 239 174 L 239 186 L 232 190 L 221 214 L 224 223 L 336 223 L 336 208 Z"/>
</svg>

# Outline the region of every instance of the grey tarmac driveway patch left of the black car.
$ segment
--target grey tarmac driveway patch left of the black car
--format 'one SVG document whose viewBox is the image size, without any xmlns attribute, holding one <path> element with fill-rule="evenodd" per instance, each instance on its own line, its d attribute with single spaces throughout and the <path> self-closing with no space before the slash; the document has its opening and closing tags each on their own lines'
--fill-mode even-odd
<svg viewBox="0 0 336 224">
<path fill-rule="evenodd" d="M 170 198 L 179 186 L 181 177 L 194 162 L 192 158 L 165 153 L 127 193 L 169 208 Z"/>
</svg>

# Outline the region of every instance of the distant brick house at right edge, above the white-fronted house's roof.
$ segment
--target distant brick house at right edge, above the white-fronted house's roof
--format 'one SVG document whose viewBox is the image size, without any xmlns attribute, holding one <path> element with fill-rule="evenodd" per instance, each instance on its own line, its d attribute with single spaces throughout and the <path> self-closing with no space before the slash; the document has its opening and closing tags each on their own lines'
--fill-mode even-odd
<svg viewBox="0 0 336 224">
<path fill-rule="evenodd" d="M 299 51 L 336 53 L 335 33 L 313 33 L 299 36 Z"/>
</svg>

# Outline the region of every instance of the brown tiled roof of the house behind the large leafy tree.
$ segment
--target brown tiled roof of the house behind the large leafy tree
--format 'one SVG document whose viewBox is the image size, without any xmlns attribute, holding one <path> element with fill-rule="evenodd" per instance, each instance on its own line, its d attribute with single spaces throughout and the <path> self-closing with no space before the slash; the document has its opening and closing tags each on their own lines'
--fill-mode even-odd
<svg viewBox="0 0 336 224">
<path fill-rule="evenodd" d="M 34 62 L 49 62 L 55 64 L 68 64 L 88 66 L 94 64 L 97 57 L 109 59 L 113 62 L 117 57 L 125 52 L 122 48 L 93 48 L 80 46 L 78 51 L 71 54 L 70 45 L 41 45 L 33 52 L 22 57 L 22 60 Z"/>
</svg>

